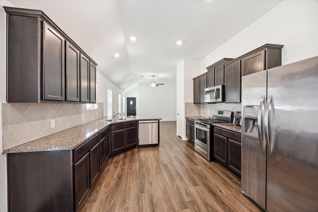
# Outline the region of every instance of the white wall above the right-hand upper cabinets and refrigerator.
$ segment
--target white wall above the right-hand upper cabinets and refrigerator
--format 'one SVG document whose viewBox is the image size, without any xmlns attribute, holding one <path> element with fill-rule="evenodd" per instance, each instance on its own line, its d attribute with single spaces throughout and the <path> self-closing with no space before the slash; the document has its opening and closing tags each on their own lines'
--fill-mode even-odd
<svg viewBox="0 0 318 212">
<path fill-rule="evenodd" d="M 266 43 L 284 45 L 282 65 L 317 56 L 318 1 L 283 1 L 202 59 L 201 73 L 222 58 L 238 58 Z"/>
</svg>

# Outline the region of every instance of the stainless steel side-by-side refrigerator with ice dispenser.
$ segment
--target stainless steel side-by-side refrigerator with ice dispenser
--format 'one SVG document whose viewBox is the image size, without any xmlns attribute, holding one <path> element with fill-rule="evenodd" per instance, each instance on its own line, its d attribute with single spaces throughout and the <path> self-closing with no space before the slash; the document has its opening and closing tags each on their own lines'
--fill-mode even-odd
<svg viewBox="0 0 318 212">
<path fill-rule="evenodd" d="M 268 212 L 318 212 L 318 57 L 241 82 L 242 192 Z"/>
</svg>

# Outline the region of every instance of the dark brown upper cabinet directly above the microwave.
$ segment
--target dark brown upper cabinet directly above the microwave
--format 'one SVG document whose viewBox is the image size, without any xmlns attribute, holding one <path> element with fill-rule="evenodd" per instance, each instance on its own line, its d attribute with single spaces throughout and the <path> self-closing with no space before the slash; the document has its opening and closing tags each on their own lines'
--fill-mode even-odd
<svg viewBox="0 0 318 212">
<path fill-rule="evenodd" d="M 224 58 L 206 68 L 208 70 L 207 87 L 213 87 L 224 84 L 224 64 L 231 60 L 233 59 Z"/>
</svg>

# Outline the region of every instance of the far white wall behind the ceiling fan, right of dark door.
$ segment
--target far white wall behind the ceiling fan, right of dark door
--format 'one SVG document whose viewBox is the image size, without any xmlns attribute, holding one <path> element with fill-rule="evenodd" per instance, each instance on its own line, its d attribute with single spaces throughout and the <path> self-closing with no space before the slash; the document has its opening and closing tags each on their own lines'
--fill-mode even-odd
<svg viewBox="0 0 318 212">
<path fill-rule="evenodd" d="M 159 116 L 162 121 L 176 120 L 176 80 L 151 87 L 139 83 L 139 116 Z"/>
</svg>

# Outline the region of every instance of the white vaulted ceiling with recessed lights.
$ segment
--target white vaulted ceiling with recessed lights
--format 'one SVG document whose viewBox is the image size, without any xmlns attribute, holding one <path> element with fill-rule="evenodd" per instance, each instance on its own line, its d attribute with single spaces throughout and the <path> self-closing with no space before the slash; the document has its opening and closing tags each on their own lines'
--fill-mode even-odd
<svg viewBox="0 0 318 212">
<path fill-rule="evenodd" d="M 176 78 L 183 59 L 201 59 L 282 0 L 7 0 L 43 10 L 123 91 Z M 134 35 L 137 41 L 129 37 Z M 178 46 L 176 40 L 182 40 Z M 246 42 L 246 41 L 244 41 Z M 118 58 L 114 57 L 119 53 Z M 220 56 L 220 60 L 224 56 Z M 217 62 L 217 61 L 215 61 Z M 145 77 L 140 77 L 144 75 Z"/>
</svg>

